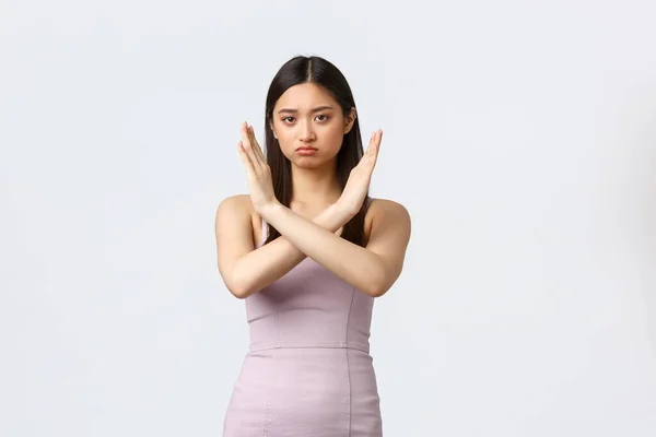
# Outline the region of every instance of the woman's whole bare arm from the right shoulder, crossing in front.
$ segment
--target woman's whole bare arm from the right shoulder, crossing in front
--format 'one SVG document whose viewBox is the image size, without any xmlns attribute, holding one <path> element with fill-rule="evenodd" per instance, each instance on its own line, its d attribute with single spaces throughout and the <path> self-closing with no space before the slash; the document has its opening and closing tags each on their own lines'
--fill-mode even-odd
<svg viewBox="0 0 656 437">
<path fill-rule="evenodd" d="M 375 204 L 378 204 L 374 208 Z M 339 202 L 336 203 L 339 210 Z M 410 215 L 399 203 L 378 200 L 366 248 L 354 245 L 280 203 L 262 216 L 300 251 L 363 293 L 379 297 L 401 273 L 408 241 Z M 350 214 L 345 214 L 350 218 Z"/>
</svg>

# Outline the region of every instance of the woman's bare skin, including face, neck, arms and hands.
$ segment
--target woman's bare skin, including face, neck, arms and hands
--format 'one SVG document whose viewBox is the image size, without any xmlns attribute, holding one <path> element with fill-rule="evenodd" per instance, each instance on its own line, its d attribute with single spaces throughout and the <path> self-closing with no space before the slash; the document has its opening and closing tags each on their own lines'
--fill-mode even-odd
<svg viewBox="0 0 656 437">
<path fill-rule="evenodd" d="M 366 197 L 383 134 L 380 130 L 372 134 L 363 158 L 340 192 L 336 156 L 355 116 L 354 109 L 343 116 L 337 102 L 313 83 L 292 86 L 277 102 L 271 129 L 292 163 L 290 208 L 276 199 L 271 172 L 253 127 L 242 126 L 237 151 L 249 194 L 223 200 L 215 217 L 218 267 L 235 297 L 258 293 L 306 257 L 373 297 L 383 296 L 399 277 L 411 232 L 403 205 L 385 199 L 372 201 L 365 216 L 366 247 L 339 237 Z M 308 145 L 317 152 L 309 156 L 297 153 L 298 146 Z M 262 218 L 281 237 L 256 249 Z"/>
</svg>

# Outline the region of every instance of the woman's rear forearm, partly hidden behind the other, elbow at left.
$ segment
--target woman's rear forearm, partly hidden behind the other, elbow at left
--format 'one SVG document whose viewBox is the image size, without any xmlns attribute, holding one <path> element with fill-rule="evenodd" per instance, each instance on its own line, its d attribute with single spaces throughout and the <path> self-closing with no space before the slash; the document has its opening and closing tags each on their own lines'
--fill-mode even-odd
<svg viewBox="0 0 656 437">
<path fill-rule="evenodd" d="M 307 221 L 335 235 L 349 220 L 349 215 L 339 211 L 336 205 L 331 205 Z M 232 275 L 233 283 L 237 284 L 236 290 L 239 291 L 238 297 L 245 298 L 272 284 L 305 258 L 307 256 L 281 233 L 279 238 L 245 255 L 235 263 Z"/>
</svg>

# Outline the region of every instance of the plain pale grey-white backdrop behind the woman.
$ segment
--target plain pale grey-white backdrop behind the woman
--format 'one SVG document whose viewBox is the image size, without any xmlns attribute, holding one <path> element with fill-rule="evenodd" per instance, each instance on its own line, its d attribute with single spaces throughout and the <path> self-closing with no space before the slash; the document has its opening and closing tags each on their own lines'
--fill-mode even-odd
<svg viewBox="0 0 656 437">
<path fill-rule="evenodd" d="M 0 2 L 0 435 L 220 436 L 214 213 L 295 55 L 384 130 L 386 436 L 656 435 L 652 1 Z"/>
</svg>

